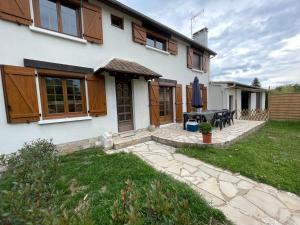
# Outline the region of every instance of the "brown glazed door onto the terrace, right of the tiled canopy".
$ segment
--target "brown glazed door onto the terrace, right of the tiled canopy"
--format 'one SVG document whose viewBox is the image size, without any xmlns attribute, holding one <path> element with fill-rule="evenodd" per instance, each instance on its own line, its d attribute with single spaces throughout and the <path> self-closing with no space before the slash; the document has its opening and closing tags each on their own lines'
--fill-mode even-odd
<svg viewBox="0 0 300 225">
<path fill-rule="evenodd" d="M 173 122 L 173 94 L 171 87 L 159 87 L 160 123 Z"/>
</svg>

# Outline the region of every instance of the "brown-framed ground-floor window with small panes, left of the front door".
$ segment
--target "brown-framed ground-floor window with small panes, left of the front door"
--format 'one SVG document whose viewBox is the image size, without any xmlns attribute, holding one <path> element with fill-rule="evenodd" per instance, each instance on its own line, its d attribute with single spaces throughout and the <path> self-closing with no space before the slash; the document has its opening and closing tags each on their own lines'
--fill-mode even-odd
<svg viewBox="0 0 300 225">
<path fill-rule="evenodd" d="M 84 79 L 42 74 L 40 83 L 44 118 L 86 114 Z"/>
</svg>

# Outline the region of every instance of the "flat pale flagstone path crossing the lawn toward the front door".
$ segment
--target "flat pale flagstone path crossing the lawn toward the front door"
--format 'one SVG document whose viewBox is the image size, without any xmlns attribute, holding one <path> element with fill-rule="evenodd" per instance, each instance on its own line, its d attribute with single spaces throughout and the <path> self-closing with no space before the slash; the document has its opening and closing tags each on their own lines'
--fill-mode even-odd
<svg viewBox="0 0 300 225">
<path fill-rule="evenodd" d="M 154 141 L 119 150 L 132 152 L 175 179 L 190 185 L 237 225 L 300 225 L 300 198 L 239 174 L 175 153 Z"/>
</svg>

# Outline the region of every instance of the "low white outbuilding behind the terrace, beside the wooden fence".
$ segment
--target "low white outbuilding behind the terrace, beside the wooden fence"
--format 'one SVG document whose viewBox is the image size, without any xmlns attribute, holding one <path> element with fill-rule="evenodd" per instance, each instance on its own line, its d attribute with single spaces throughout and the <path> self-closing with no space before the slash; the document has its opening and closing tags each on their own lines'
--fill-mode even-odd
<svg viewBox="0 0 300 225">
<path fill-rule="evenodd" d="M 209 84 L 209 103 L 213 109 L 264 110 L 266 90 L 235 81 L 211 81 Z"/>
</svg>

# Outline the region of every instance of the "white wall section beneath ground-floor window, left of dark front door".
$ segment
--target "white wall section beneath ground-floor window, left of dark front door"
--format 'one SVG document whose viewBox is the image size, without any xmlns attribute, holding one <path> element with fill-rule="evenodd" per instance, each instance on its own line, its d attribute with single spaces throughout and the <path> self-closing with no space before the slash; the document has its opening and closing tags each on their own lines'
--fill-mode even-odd
<svg viewBox="0 0 300 225">
<path fill-rule="evenodd" d="M 2 79 L 0 79 L 2 85 Z M 22 146 L 25 141 L 37 138 L 52 138 L 55 143 L 97 137 L 105 131 L 117 132 L 116 98 L 114 78 L 106 77 L 107 116 L 95 117 L 92 120 L 38 125 L 8 124 L 4 107 L 3 91 L 0 91 L 0 153 L 10 153 Z"/>
</svg>

